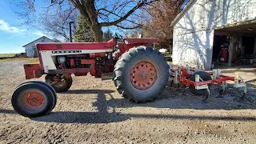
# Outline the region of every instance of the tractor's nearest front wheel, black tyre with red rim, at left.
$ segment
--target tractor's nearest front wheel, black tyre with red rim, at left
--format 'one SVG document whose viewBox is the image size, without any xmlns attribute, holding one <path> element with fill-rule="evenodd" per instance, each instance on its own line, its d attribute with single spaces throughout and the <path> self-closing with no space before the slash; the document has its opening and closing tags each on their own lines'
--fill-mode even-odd
<svg viewBox="0 0 256 144">
<path fill-rule="evenodd" d="M 25 117 L 39 117 L 53 110 L 56 97 L 50 88 L 40 82 L 25 82 L 12 95 L 14 110 Z"/>
</svg>

